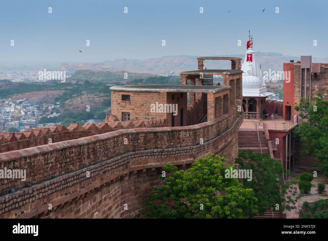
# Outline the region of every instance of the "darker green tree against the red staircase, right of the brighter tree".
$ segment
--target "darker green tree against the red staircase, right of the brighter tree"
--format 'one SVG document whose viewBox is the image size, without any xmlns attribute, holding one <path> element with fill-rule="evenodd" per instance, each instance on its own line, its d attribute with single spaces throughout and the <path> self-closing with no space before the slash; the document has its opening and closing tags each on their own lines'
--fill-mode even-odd
<svg viewBox="0 0 328 241">
<path fill-rule="evenodd" d="M 267 209 L 275 209 L 276 204 L 279 205 L 280 211 L 296 209 L 296 201 L 302 195 L 297 195 L 297 187 L 292 185 L 298 182 L 286 181 L 284 185 L 280 183 L 279 177 L 283 172 L 281 163 L 270 158 L 268 154 L 254 154 L 252 150 L 244 150 L 239 153 L 236 163 L 242 169 L 252 170 L 255 176 L 250 181 L 243 178 L 241 183 L 245 188 L 254 190 L 260 215 L 264 215 Z"/>
</svg>

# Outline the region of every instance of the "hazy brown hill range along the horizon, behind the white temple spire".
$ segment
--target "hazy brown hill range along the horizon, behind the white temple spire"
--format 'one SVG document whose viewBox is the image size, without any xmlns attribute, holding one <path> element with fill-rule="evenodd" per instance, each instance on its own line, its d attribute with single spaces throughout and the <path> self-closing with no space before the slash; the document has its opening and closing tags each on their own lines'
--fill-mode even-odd
<svg viewBox="0 0 328 241">
<path fill-rule="evenodd" d="M 222 57 L 240 57 L 244 58 L 245 54 L 221 55 Z M 177 56 L 162 56 L 159 58 L 149 59 L 114 59 L 106 60 L 102 63 L 83 63 L 83 64 L 69 64 L 61 65 L 61 70 L 67 72 L 75 72 L 76 70 L 102 70 L 102 71 L 130 71 L 135 73 L 151 73 L 161 74 L 170 73 L 174 71 L 179 74 L 181 71 L 196 70 L 197 60 L 199 56 L 177 55 Z M 256 52 L 256 58 L 261 65 L 262 71 L 265 70 L 282 70 L 283 63 L 290 60 L 300 60 L 300 56 L 288 56 L 276 52 Z M 313 62 L 328 63 L 328 58 L 312 58 Z M 204 69 L 228 69 L 230 68 L 230 61 L 214 61 L 205 60 Z"/>
</svg>

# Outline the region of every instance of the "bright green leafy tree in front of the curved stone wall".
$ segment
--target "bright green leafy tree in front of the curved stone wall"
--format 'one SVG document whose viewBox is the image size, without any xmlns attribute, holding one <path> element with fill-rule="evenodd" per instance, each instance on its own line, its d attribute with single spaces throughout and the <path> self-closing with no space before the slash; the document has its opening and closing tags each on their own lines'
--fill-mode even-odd
<svg viewBox="0 0 328 241">
<path fill-rule="evenodd" d="M 258 207 L 252 189 L 243 188 L 238 179 L 225 178 L 227 161 L 218 155 L 195 160 L 187 171 L 171 164 L 163 167 L 172 175 L 143 204 L 140 214 L 148 218 L 246 218 Z M 161 178 L 161 176 L 160 176 Z"/>
</svg>

